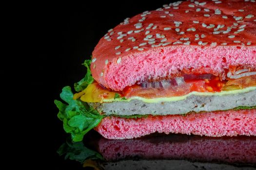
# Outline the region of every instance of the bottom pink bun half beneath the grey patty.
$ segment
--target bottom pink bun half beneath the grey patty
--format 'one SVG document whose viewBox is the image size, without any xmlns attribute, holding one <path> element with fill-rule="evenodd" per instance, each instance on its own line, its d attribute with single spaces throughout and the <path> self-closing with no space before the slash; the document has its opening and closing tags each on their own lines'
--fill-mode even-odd
<svg viewBox="0 0 256 170">
<path fill-rule="evenodd" d="M 256 109 L 138 119 L 106 117 L 95 129 L 109 139 L 134 138 L 155 132 L 201 136 L 256 136 Z"/>
</svg>

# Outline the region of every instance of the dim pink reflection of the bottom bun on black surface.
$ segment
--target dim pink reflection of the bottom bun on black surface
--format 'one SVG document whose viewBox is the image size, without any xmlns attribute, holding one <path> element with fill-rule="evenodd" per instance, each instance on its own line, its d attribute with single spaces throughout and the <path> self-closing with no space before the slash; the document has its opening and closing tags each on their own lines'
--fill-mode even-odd
<svg viewBox="0 0 256 170">
<path fill-rule="evenodd" d="M 167 140 L 164 136 L 126 140 L 101 138 L 98 146 L 99 152 L 108 161 L 141 158 L 256 163 L 255 136 L 221 138 L 190 136 L 188 138 L 173 135 Z"/>
</svg>

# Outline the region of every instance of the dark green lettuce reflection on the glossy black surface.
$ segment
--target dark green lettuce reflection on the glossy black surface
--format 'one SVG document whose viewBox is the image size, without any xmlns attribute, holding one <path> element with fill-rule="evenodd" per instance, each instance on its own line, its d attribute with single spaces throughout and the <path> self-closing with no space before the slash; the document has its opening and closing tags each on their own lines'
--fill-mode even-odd
<svg viewBox="0 0 256 170">
<path fill-rule="evenodd" d="M 57 151 L 59 155 L 65 155 L 65 159 L 76 160 L 81 163 L 87 159 L 100 159 L 103 160 L 103 157 L 96 151 L 86 148 L 83 142 L 66 142 L 63 143 L 59 150 Z"/>
</svg>

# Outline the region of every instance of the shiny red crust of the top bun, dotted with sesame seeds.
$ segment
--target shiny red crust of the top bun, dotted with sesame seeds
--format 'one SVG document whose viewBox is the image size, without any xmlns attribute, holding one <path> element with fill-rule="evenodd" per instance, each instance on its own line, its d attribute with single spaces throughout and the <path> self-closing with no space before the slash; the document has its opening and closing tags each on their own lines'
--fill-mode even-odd
<svg viewBox="0 0 256 170">
<path fill-rule="evenodd" d="M 180 45 L 255 47 L 256 1 L 177 1 L 126 18 L 100 39 L 92 68 L 119 64 L 128 54 Z M 102 69 L 96 72 L 104 75 Z"/>
</svg>

